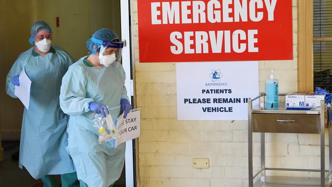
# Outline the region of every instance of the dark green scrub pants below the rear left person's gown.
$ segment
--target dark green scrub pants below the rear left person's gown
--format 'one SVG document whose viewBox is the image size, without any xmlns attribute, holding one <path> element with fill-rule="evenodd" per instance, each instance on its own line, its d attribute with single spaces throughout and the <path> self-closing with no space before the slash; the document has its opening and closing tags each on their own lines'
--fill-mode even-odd
<svg viewBox="0 0 332 187">
<path fill-rule="evenodd" d="M 58 180 L 55 178 L 55 175 L 45 175 L 41 177 L 43 182 L 43 187 L 58 187 Z M 76 172 L 67 173 L 61 175 L 61 185 L 62 187 L 79 187 L 80 181 L 77 179 Z"/>
</svg>

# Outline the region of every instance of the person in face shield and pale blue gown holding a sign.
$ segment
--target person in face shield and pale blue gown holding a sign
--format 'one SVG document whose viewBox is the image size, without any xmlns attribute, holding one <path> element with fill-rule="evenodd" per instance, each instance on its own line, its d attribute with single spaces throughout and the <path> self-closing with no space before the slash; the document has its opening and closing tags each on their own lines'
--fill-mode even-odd
<svg viewBox="0 0 332 187">
<path fill-rule="evenodd" d="M 96 31 L 86 42 L 88 56 L 71 65 L 62 79 L 60 106 L 70 115 L 67 151 L 74 160 L 81 186 L 113 186 L 125 161 L 125 144 L 99 144 L 91 113 L 111 114 L 113 122 L 131 109 L 121 65 L 124 43 L 109 29 Z M 109 110 L 108 110 L 108 108 Z"/>
</svg>

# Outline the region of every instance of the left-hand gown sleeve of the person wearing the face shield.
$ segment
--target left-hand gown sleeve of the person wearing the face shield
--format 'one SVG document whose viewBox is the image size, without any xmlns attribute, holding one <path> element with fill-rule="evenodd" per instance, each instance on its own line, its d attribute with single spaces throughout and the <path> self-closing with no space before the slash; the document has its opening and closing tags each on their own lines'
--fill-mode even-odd
<svg viewBox="0 0 332 187">
<path fill-rule="evenodd" d="M 88 112 L 88 103 L 93 101 L 85 98 L 86 80 L 79 66 L 70 66 L 62 78 L 60 89 L 60 107 L 68 115 L 80 115 Z"/>
</svg>

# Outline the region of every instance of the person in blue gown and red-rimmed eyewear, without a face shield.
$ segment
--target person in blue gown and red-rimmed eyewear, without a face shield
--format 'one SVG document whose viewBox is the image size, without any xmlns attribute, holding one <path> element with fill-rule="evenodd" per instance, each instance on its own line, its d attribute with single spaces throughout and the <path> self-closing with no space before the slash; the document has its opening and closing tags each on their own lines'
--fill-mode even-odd
<svg viewBox="0 0 332 187">
<path fill-rule="evenodd" d="M 29 109 L 23 112 L 19 167 L 41 178 L 44 186 L 59 186 L 54 175 L 61 174 L 62 186 L 79 186 L 72 158 L 66 152 L 68 115 L 60 108 L 63 75 L 72 58 L 51 45 L 52 31 L 44 21 L 31 27 L 32 48 L 21 53 L 6 78 L 6 92 L 12 98 L 19 75 L 24 70 L 31 80 Z"/>
</svg>

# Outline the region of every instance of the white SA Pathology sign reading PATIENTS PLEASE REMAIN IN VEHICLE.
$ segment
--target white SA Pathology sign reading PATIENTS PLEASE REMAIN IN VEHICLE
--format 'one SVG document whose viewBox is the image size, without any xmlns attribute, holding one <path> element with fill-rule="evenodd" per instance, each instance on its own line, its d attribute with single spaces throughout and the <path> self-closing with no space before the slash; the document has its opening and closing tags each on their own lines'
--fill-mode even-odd
<svg viewBox="0 0 332 187">
<path fill-rule="evenodd" d="M 247 120 L 258 62 L 177 63 L 178 120 Z"/>
</svg>

